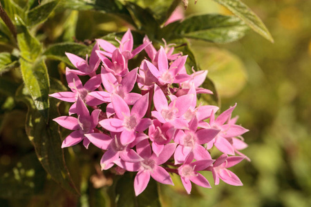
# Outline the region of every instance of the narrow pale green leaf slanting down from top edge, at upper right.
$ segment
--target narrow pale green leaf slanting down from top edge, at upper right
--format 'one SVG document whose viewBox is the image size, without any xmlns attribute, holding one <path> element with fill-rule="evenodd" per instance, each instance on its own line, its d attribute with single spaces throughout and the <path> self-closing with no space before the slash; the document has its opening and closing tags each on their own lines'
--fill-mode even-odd
<svg viewBox="0 0 311 207">
<path fill-rule="evenodd" d="M 228 10 L 236 15 L 236 17 L 245 21 L 245 23 L 252 28 L 258 34 L 265 37 L 265 39 L 274 42 L 270 32 L 265 27 L 265 24 L 259 17 L 252 12 L 242 1 L 240 0 L 214 0 L 217 3 L 225 6 Z"/>
</svg>

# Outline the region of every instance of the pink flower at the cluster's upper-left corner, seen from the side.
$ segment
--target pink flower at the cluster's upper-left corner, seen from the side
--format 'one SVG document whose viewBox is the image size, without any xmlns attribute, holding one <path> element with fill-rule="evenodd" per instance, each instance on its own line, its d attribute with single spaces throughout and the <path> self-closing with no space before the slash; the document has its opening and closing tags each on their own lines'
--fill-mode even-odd
<svg viewBox="0 0 311 207">
<path fill-rule="evenodd" d="M 95 71 L 97 70 L 98 66 L 100 66 L 100 58 L 97 56 L 96 50 L 100 50 L 98 43 L 95 43 L 95 46 L 93 47 L 89 62 L 88 62 L 87 55 L 86 55 L 86 59 L 84 60 L 81 57 L 78 57 L 77 55 L 66 52 L 65 54 L 70 60 L 70 62 L 73 63 L 73 66 L 79 69 L 79 70 L 69 70 L 69 71 L 77 75 L 90 75 L 91 77 L 96 75 Z"/>
</svg>

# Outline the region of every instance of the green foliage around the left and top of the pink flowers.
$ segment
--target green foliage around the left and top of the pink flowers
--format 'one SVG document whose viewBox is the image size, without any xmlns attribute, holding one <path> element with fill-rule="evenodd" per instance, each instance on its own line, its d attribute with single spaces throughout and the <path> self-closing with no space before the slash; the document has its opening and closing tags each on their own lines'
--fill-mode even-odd
<svg viewBox="0 0 311 207">
<path fill-rule="evenodd" d="M 0 189 L 0 197 L 3 199 L 0 202 L 8 204 L 7 206 L 35 206 L 36 201 L 43 204 L 44 199 L 40 199 L 40 194 L 44 192 L 48 197 L 50 188 L 55 188 L 57 190 L 54 194 L 50 193 L 48 200 L 50 206 L 75 206 L 78 203 L 90 206 L 95 205 L 94 200 L 102 201 L 101 205 L 127 206 L 122 197 L 132 195 L 132 189 L 124 187 L 122 190 L 128 191 L 120 192 L 120 186 L 124 186 L 124 179 L 132 179 L 131 175 L 126 175 L 128 178 L 114 179 L 113 185 L 109 186 L 113 173 L 95 171 L 100 153 L 97 149 L 91 147 L 88 153 L 84 153 L 80 146 L 71 150 L 62 150 L 60 147 L 61 137 L 66 137 L 68 131 L 59 130 L 52 119 L 59 112 L 64 115 L 69 106 L 49 99 L 48 94 L 66 90 L 64 68 L 71 63 L 64 52 L 90 54 L 95 38 L 102 36 L 111 41 L 110 37 L 119 35 L 130 27 L 135 30 L 136 34 L 133 35 L 139 43 L 142 43 L 145 34 L 158 48 L 162 44 L 162 38 L 167 43 L 177 43 L 176 50 L 189 55 L 186 67 L 191 71 L 191 66 L 195 70 L 207 68 L 199 66 L 187 39 L 229 43 L 241 39 L 251 28 L 272 41 L 261 20 L 241 1 L 216 2 L 226 6 L 236 17 L 202 14 L 165 25 L 180 1 L 147 3 L 109 0 L 103 3 L 97 0 L 1 0 L 0 135 L 1 144 L 3 143 L 1 164 L 4 167 L 0 170 L 0 186 L 7 188 L 6 192 L 3 188 Z M 109 23 L 117 23 L 117 27 L 109 30 Z M 91 27 L 88 32 L 78 32 L 88 26 Z M 73 39 L 70 37 L 72 34 L 75 35 Z M 134 42 L 135 46 L 139 43 Z M 140 59 L 142 57 L 133 59 L 133 64 Z M 211 79 L 208 78 L 203 85 L 213 90 L 214 95 L 202 95 L 201 98 L 207 103 L 219 105 Z M 19 116 L 16 117 L 16 114 Z M 14 124 L 8 128 L 8 123 Z M 12 137 L 12 140 L 8 137 Z M 26 137 L 32 146 L 23 141 Z M 6 150 L 2 150 L 6 147 Z M 89 181 L 91 175 L 98 175 L 100 178 Z M 25 178 L 21 182 L 23 177 Z M 62 193 L 63 188 L 66 193 Z M 155 192 L 158 192 L 158 186 L 151 182 L 147 195 L 126 198 L 131 205 L 140 206 L 147 202 L 146 197 L 152 195 L 154 197 L 150 205 L 160 206 L 158 193 Z M 16 195 L 18 201 L 15 200 Z M 53 199 L 55 197 L 57 199 Z"/>
</svg>

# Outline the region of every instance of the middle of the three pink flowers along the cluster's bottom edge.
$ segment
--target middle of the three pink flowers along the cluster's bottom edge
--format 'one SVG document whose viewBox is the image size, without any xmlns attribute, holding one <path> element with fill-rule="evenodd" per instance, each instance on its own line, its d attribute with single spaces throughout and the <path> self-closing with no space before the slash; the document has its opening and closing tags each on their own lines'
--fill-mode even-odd
<svg viewBox="0 0 311 207">
<path fill-rule="evenodd" d="M 211 188 L 209 181 L 198 173 L 198 171 L 205 170 L 208 166 L 210 166 L 214 159 L 202 159 L 198 161 L 194 161 L 194 153 L 191 152 L 187 156 L 185 162 L 178 168 L 178 175 L 180 175 L 180 179 L 182 180 L 182 184 L 184 185 L 188 194 L 191 192 L 191 181 L 198 186 L 202 186 L 204 188 Z"/>
</svg>

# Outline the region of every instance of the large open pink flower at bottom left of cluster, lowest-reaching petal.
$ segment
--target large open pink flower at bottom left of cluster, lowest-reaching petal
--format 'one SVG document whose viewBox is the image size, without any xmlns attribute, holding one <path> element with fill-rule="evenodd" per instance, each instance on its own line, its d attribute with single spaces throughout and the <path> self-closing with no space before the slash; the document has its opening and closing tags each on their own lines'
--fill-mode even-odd
<svg viewBox="0 0 311 207">
<path fill-rule="evenodd" d="M 130 163 L 119 159 L 115 161 L 115 164 L 128 171 L 138 171 L 134 179 L 135 195 L 138 196 L 147 187 L 150 176 L 161 184 L 173 185 L 169 172 L 160 165 L 164 164 L 173 155 L 175 148 L 176 144 L 167 144 L 160 155 L 157 156 L 152 153 L 149 141 L 145 139 L 136 145 L 136 151 L 144 159 L 143 161 Z"/>
</svg>

